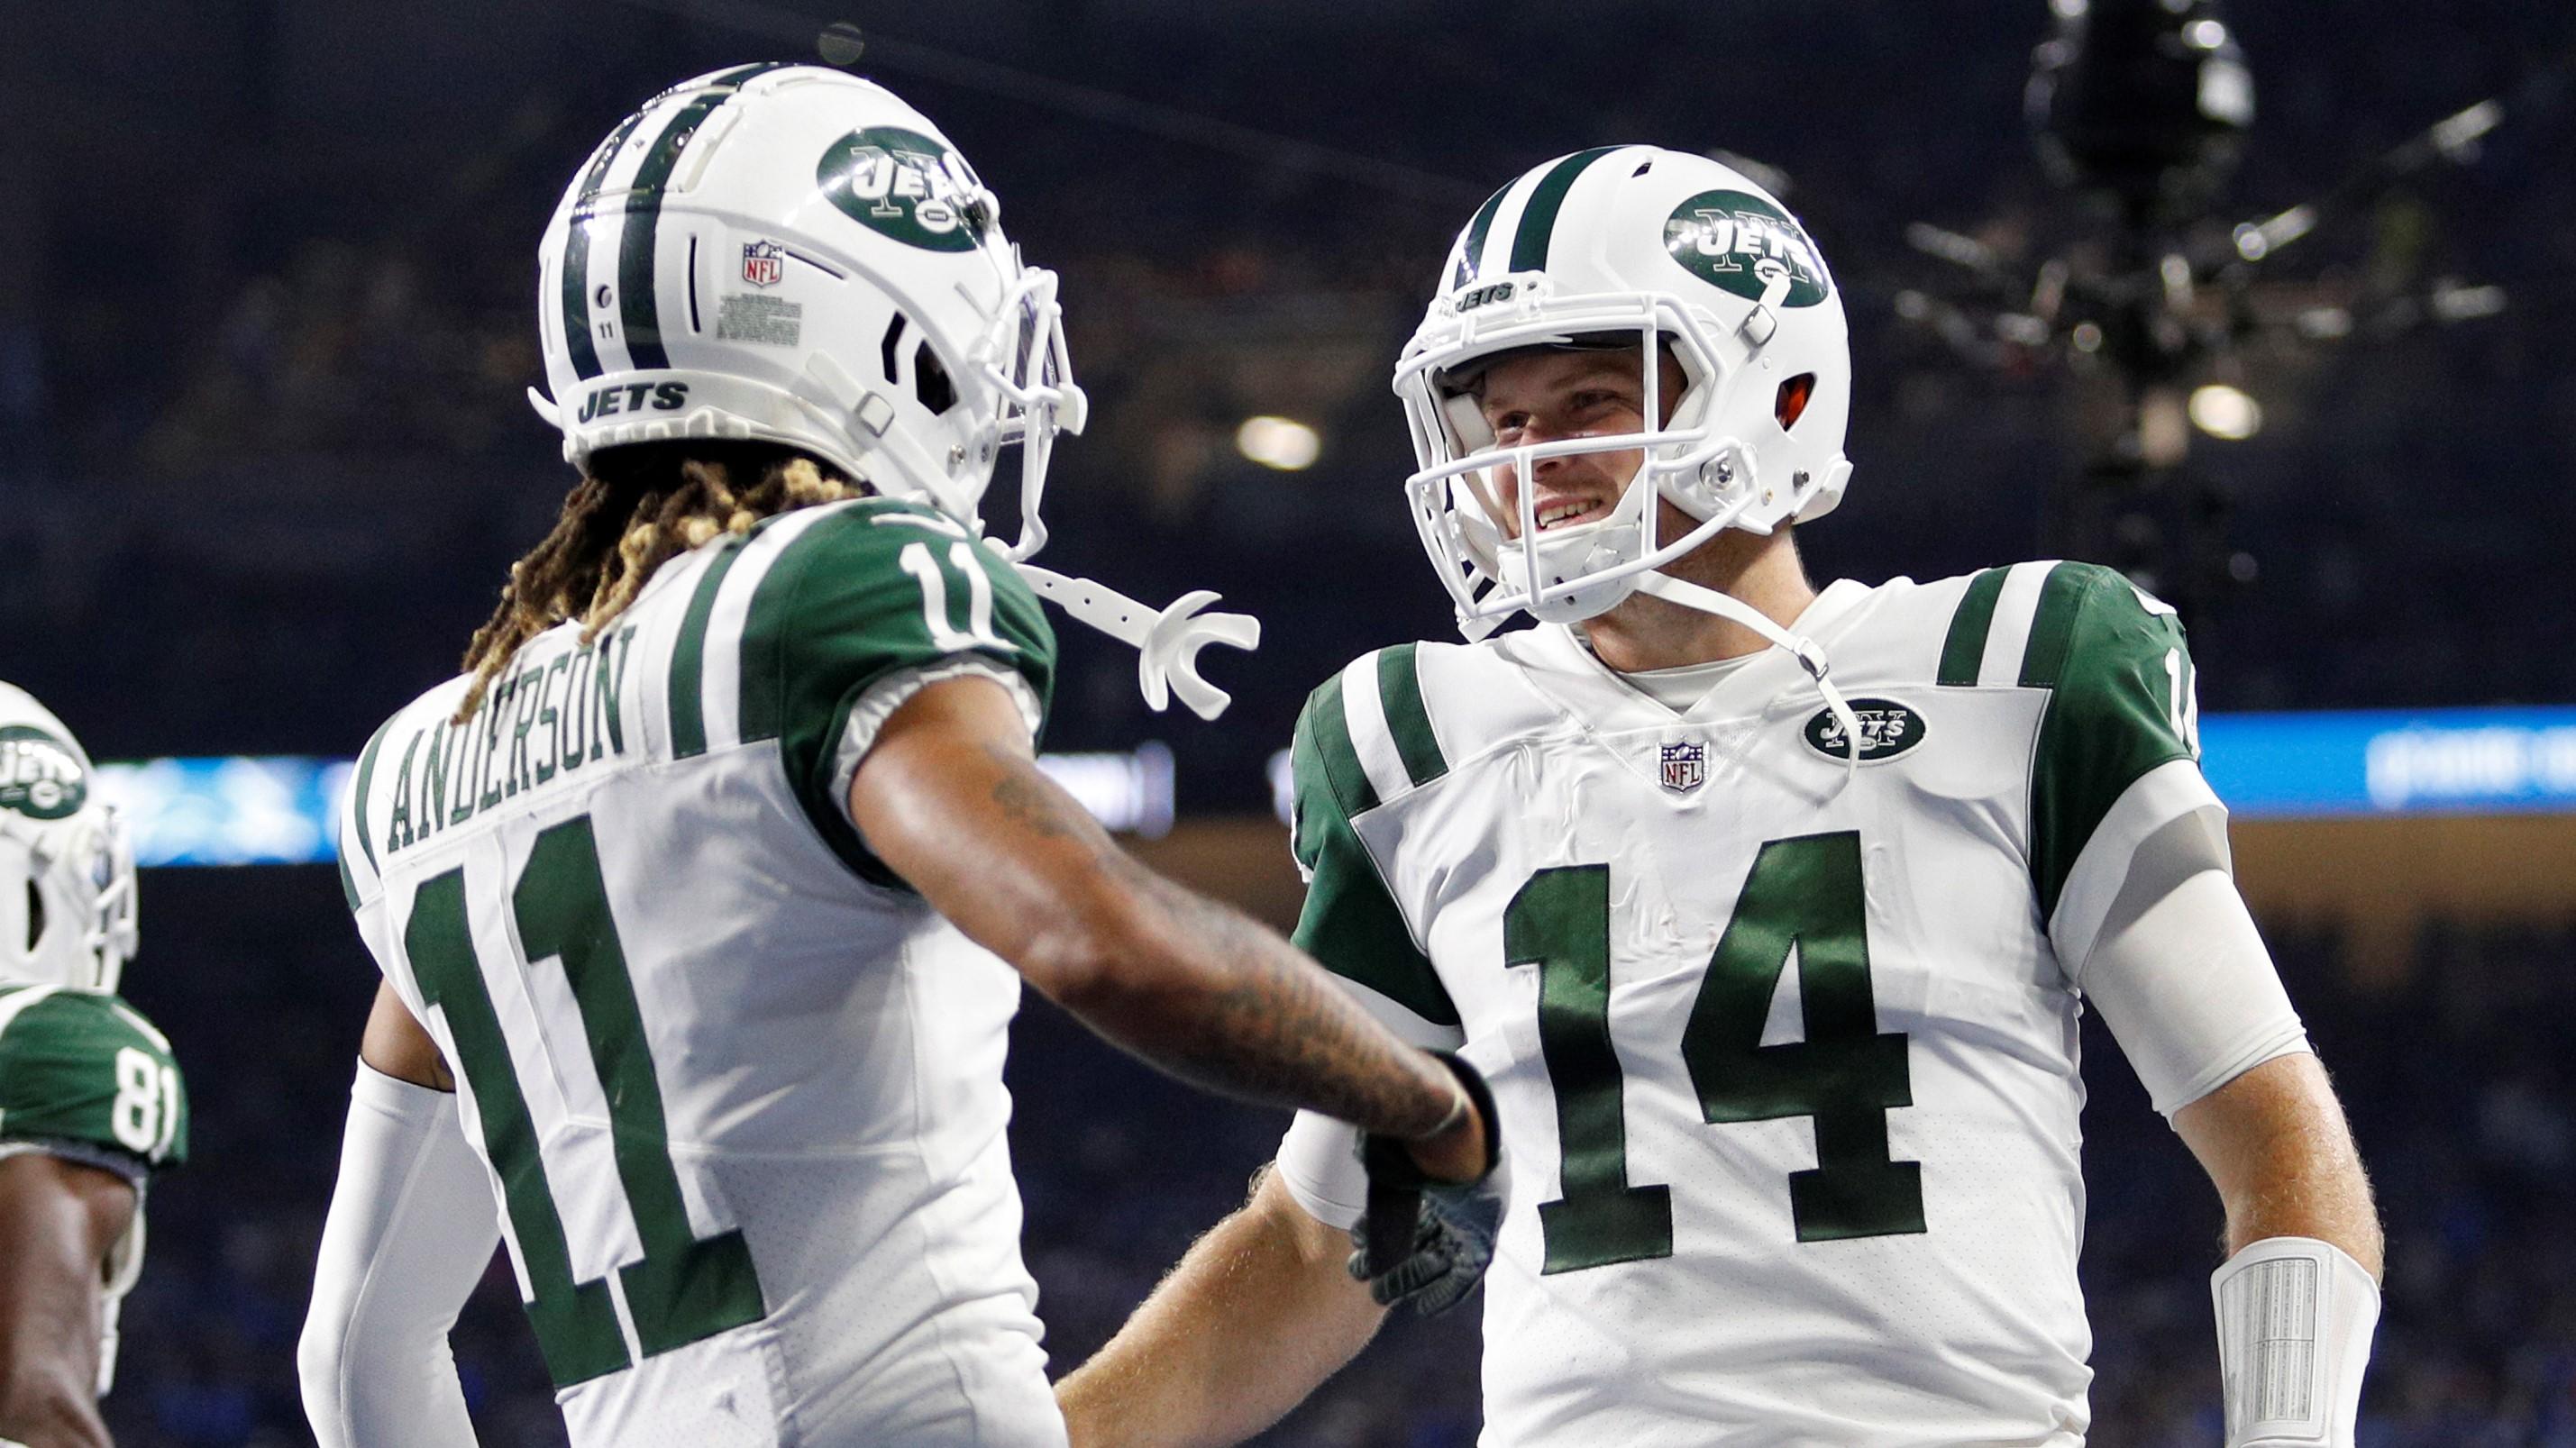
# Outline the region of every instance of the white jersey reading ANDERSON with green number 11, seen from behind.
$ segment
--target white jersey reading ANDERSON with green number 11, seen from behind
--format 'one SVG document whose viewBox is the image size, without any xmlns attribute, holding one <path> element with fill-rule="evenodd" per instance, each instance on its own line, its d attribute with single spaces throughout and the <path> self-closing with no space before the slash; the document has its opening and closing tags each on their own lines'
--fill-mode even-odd
<svg viewBox="0 0 2576 1448">
<path fill-rule="evenodd" d="M 835 502 L 358 760 L 350 910 L 456 1067 L 577 1445 L 1064 1440 L 1005 1147 L 1020 982 L 845 804 L 953 675 L 1036 729 L 1036 598 L 940 513 Z"/>
</svg>

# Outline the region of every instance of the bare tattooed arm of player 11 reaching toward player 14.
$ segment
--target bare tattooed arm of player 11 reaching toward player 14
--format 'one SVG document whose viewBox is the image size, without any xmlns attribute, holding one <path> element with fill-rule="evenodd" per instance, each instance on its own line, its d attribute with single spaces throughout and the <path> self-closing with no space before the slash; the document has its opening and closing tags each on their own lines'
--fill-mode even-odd
<svg viewBox="0 0 2576 1448">
<path fill-rule="evenodd" d="M 1414 1141 L 1422 1170 L 1484 1170 L 1484 1123 L 1275 933 L 1121 850 L 1038 770 L 1002 685 L 933 683 L 850 781 L 868 848 L 1084 1025 L 1208 1090 Z"/>
</svg>

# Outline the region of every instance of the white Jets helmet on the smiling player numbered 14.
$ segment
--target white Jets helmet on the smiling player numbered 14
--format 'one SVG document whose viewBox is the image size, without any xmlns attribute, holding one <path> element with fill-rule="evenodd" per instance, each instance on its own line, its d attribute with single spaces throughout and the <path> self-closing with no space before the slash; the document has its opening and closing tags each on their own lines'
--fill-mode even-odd
<svg viewBox="0 0 2576 1448">
<path fill-rule="evenodd" d="M 1499 448 L 1466 392 L 1497 353 L 1613 345 L 1638 353 L 1646 430 Z M 1656 425 L 1667 348 L 1685 381 Z M 1497 191 L 1450 247 L 1394 384 L 1419 461 L 1406 502 L 1468 639 L 1517 611 L 1592 618 L 1638 587 L 1703 595 L 1649 572 L 1721 528 L 1824 518 L 1852 474 L 1852 356 L 1824 255 L 1762 186 L 1687 152 L 1574 152 Z M 1607 518 L 1540 533 L 1528 487 L 1517 536 L 1497 515 L 1497 464 L 1528 477 L 1538 459 L 1620 451 L 1643 464 Z M 1695 528 L 1656 544 L 1656 497 Z"/>
</svg>

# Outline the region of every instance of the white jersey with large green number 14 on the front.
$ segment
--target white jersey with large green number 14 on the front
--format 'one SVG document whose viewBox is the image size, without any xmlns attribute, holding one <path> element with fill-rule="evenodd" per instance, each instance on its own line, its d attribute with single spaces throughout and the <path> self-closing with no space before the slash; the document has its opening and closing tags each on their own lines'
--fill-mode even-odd
<svg viewBox="0 0 2576 1448">
<path fill-rule="evenodd" d="M 2182 631 L 2087 564 L 1837 582 L 1798 631 L 1857 768 L 1780 649 L 1677 711 L 1561 626 L 1363 657 L 1298 721 L 1298 943 L 1497 1092 L 1489 1448 L 2081 1443 L 2069 961 L 2218 809 Z M 1329 1139 L 1280 1172 L 1350 1224 Z"/>
</svg>

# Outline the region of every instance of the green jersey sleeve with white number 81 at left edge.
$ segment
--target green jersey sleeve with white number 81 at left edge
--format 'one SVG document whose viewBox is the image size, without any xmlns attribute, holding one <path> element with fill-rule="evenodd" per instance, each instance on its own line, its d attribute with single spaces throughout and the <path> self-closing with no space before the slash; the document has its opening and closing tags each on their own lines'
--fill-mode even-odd
<svg viewBox="0 0 2576 1448">
<path fill-rule="evenodd" d="M 0 1136 L 85 1141 L 175 1167 L 188 1159 L 188 1092 L 134 1007 L 57 989 L 0 1031 Z"/>
</svg>

